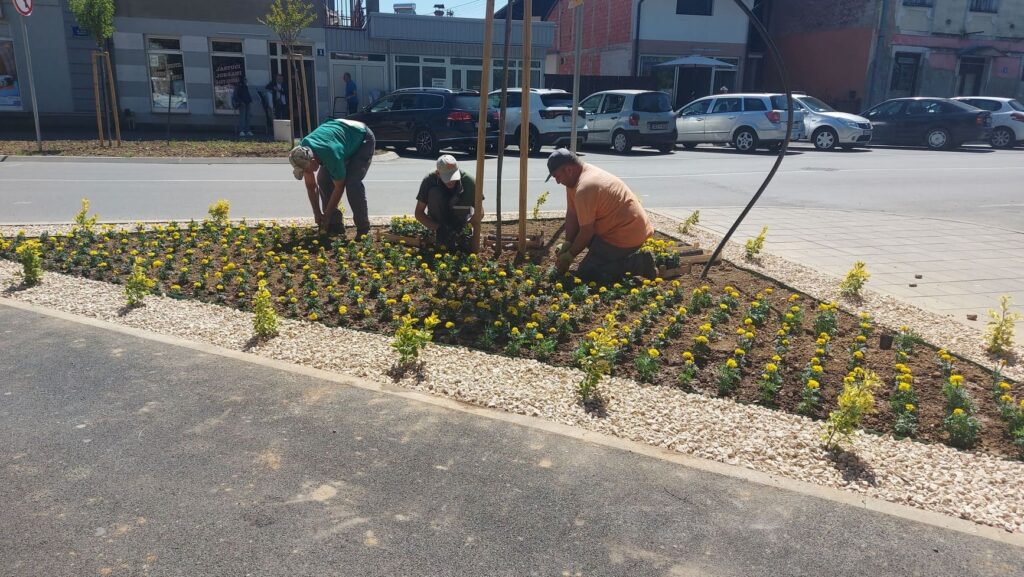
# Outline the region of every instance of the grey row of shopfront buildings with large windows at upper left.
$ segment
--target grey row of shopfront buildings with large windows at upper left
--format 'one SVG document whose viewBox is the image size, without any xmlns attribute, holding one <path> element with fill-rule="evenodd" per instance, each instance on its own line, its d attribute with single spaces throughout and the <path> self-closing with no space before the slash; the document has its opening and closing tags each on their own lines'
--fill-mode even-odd
<svg viewBox="0 0 1024 577">
<path fill-rule="evenodd" d="M 313 123 L 346 114 L 344 73 L 356 82 L 359 101 L 395 88 L 443 86 L 487 89 L 482 78 L 482 19 L 387 14 L 375 0 L 314 0 L 316 20 L 293 48 L 301 57 Z M 259 23 L 270 0 L 119 0 L 110 42 L 118 108 L 139 126 L 171 124 L 182 130 L 234 129 L 233 85 L 243 75 L 254 96 L 254 131 L 264 126 L 260 92 L 287 71 L 289 48 Z M 31 126 L 25 40 L 18 14 L 0 11 L 0 131 Z M 510 72 L 518 83 L 522 23 L 509 39 Z M 92 52 L 68 0 L 37 0 L 27 20 L 39 112 L 45 127 L 95 126 Z M 495 23 L 494 53 L 501 54 L 504 23 Z M 535 23 L 530 71 L 543 86 L 542 63 L 554 25 Z M 495 64 L 500 69 L 501 59 Z M 500 78 L 496 71 L 494 78 Z M 286 82 L 289 75 L 286 75 Z M 270 107 L 266 107 L 269 110 Z M 302 110 L 296 111 L 304 116 Z"/>
</svg>

